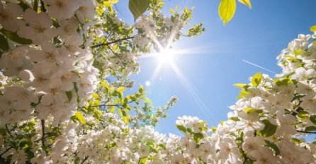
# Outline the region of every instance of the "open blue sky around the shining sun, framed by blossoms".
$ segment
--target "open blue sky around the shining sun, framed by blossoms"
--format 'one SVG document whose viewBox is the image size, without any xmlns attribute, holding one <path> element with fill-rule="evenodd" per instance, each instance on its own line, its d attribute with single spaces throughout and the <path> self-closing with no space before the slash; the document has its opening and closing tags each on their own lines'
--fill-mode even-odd
<svg viewBox="0 0 316 164">
<path fill-rule="evenodd" d="M 206 31 L 195 40 L 182 38 L 175 49 L 185 50 L 177 54 L 173 69 L 164 64 L 152 78 L 159 61 L 155 58 L 140 59 L 140 74 L 132 76 L 137 83 L 149 81 L 146 87 L 154 106 L 164 105 L 172 95 L 179 96 L 179 102 L 169 110 L 169 117 L 162 119 L 157 131 L 180 134 L 175 121 L 182 115 L 204 119 L 209 127 L 217 126 L 227 119 L 227 106 L 234 105 L 239 89 L 234 83 L 249 83 L 249 76 L 261 71 L 273 73 L 253 66 L 257 64 L 280 73 L 276 56 L 287 47 L 288 42 L 298 34 L 311 33 L 309 28 L 316 24 L 315 0 L 252 0 L 252 9 L 237 3 L 232 21 L 222 25 L 218 16 L 220 0 L 172 0 L 164 1 L 164 13 L 179 5 L 194 6 L 193 23 L 205 23 Z M 132 22 L 128 11 L 128 0 L 117 5 L 120 18 Z"/>
</svg>

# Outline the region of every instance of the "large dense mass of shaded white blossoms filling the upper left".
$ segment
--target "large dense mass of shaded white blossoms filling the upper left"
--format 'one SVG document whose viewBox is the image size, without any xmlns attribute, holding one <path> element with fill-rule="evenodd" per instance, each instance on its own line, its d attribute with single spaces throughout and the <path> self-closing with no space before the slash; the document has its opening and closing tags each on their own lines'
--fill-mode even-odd
<svg viewBox="0 0 316 164">
<path fill-rule="evenodd" d="M 55 124 L 69 120 L 96 89 L 98 69 L 92 65 L 87 36 L 94 3 L 43 2 L 48 7 L 41 12 L 21 4 L 0 4 L 2 31 L 32 43 L 9 40 L 10 49 L 1 56 L 3 76 L 15 81 L 1 82 L 1 125 L 26 121 L 31 115 L 51 116 Z"/>
</svg>

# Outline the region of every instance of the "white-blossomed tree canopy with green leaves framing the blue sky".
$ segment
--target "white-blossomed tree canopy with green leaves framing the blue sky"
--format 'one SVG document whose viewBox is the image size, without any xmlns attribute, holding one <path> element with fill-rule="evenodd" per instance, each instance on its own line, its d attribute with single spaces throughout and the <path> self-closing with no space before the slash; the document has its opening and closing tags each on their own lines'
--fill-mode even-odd
<svg viewBox="0 0 316 164">
<path fill-rule="evenodd" d="M 227 121 L 210 128 L 197 117 L 179 117 L 184 135 L 166 136 L 154 125 L 177 98 L 154 109 L 142 86 L 124 93 L 135 88 L 129 75 L 139 71 L 138 57 L 201 35 L 203 24 L 184 28 L 192 8 L 175 8 L 168 18 L 162 0 L 130 0 L 130 26 L 116 16 L 117 2 L 1 1 L 0 163 L 316 160 L 316 144 L 302 137 L 316 131 L 315 33 L 299 35 L 281 52 L 278 78 L 258 73 L 235 84 L 241 91 Z M 224 23 L 235 13 L 230 3 L 219 7 Z"/>
</svg>

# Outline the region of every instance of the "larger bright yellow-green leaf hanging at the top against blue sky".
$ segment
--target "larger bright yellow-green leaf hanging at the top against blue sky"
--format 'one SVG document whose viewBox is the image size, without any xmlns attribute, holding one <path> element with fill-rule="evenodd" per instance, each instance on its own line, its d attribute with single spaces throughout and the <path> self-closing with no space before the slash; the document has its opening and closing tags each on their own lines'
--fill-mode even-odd
<svg viewBox="0 0 316 164">
<path fill-rule="evenodd" d="M 218 6 L 218 14 L 222 18 L 224 25 L 228 23 L 232 17 L 234 17 L 236 11 L 236 1 L 235 0 L 221 0 L 220 6 Z"/>
</svg>

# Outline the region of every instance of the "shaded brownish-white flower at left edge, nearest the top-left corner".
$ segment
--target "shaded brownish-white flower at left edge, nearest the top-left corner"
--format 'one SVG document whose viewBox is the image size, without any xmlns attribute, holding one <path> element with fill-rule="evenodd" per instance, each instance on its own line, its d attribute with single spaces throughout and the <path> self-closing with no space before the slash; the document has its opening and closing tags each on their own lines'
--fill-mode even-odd
<svg viewBox="0 0 316 164">
<path fill-rule="evenodd" d="M 17 19 L 22 16 L 23 10 L 18 4 L 6 4 L 5 8 L 0 2 L 0 24 L 6 30 L 16 32 L 23 25 L 23 22 Z"/>
</svg>

